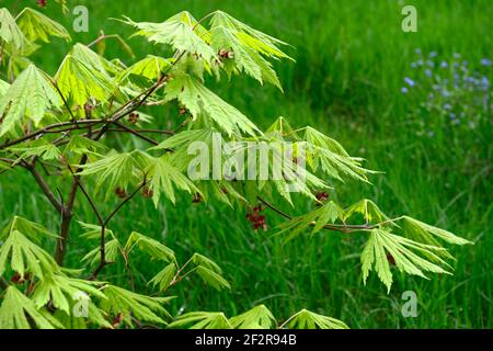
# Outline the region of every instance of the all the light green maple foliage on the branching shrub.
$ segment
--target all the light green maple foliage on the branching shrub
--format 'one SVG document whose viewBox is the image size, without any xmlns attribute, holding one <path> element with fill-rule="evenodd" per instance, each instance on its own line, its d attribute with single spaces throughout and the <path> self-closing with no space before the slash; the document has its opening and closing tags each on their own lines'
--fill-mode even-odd
<svg viewBox="0 0 493 351">
<path fill-rule="evenodd" d="M 442 242 L 470 241 L 408 216 L 389 217 L 370 200 L 345 207 L 317 196 L 346 180 L 369 182 L 375 172 L 312 126 L 295 129 L 279 117 L 262 131 L 206 87 L 206 75 L 217 80 L 245 75 L 282 91 L 273 61 L 291 59 L 283 52 L 286 43 L 222 11 L 200 20 L 180 12 L 161 23 L 130 19 L 123 23 L 135 29 L 134 36 L 169 49 L 126 66 L 76 43 L 50 77 L 32 61 L 31 54 L 51 37 L 70 41 L 69 33 L 33 9 L 25 8 L 16 16 L 0 9 L 0 65 L 5 68 L 0 80 L 0 174 L 14 168 L 31 172 L 61 218 L 56 234 L 21 217 L 13 217 L 1 231 L 0 328 L 121 328 L 142 324 L 171 328 L 347 328 L 337 319 L 306 309 L 278 322 L 263 305 L 231 318 L 220 312 L 174 316 L 167 304 L 173 297 L 172 286 L 185 276 L 196 276 L 217 290 L 231 286 L 220 267 L 203 254 L 195 253 L 181 263 L 181 258 L 156 238 L 131 229 L 110 229 L 111 219 L 138 192 L 152 197 L 156 206 L 162 201 L 179 201 L 176 192 L 188 193 L 194 201 L 220 201 L 234 207 L 253 208 L 262 203 L 286 219 L 278 234 L 287 239 L 305 233 L 322 235 L 322 230 L 359 233 L 366 237 L 360 256 L 363 281 L 374 270 L 388 291 L 392 264 L 400 272 L 426 279 L 431 273 L 450 274 L 452 269 L 446 260 L 452 257 Z M 179 127 L 142 128 L 152 121 L 164 124 L 159 110 L 164 104 L 175 104 L 184 116 Z M 140 111 L 147 105 L 153 106 L 154 116 Z M 272 202 L 277 195 L 293 204 L 286 177 L 234 182 L 191 179 L 186 174 L 190 145 L 210 145 L 215 133 L 226 141 L 240 143 L 243 151 L 251 141 L 291 143 L 296 150 L 305 148 L 306 155 L 295 155 L 285 171 L 299 177 L 294 171 L 296 157 L 305 157 L 306 182 L 296 196 L 314 201 L 313 211 L 290 216 L 276 208 Z M 108 147 L 115 134 L 139 143 L 133 144 L 133 149 L 115 149 L 115 144 Z M 41 176 L 38 169 L 46 161 L 60 170 L 59 182 L 70 180 L 67 194 L 55 195 Z M 112 201 L 110 195 L 115 192 L 121 201 L 114 211 L 101 213 L 98 203 Z M 84 252 L 80 270 L 69 270 L 64 259 L 76 202 L 87 202 L 98 223 L 81 224 L 84 240 L 93 240 L 94 249 Z M 44 248 L 50 240 L 58 248 L 55 257 Z M 145 253 L 158 267 L 158 273 L 147 278 L 152 295 L 135 291 L 135 251 Z M 126 268 L 129 286 L 113 285 L 111 276 L 100 280 L 105 268 L 117 261 Z M 90 301 L 84 317 L 74 313 L 81 304 L 77 297 L 80 293 Z"/>
</svg>

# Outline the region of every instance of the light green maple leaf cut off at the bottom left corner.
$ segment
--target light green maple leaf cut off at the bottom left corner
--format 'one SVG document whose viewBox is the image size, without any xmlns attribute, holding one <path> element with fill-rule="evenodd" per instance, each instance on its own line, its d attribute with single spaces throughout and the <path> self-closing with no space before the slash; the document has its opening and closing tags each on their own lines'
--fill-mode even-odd
<svg viewBox="0 0 493 351">
<path fill-rule="evenodd" d="M 47 310 L 37 309 L 32 299 L 9 286 L 0 306 L 0 329 L 31 329 L 30 321 L 41 329 L 64 328 Z"/>
</svg>

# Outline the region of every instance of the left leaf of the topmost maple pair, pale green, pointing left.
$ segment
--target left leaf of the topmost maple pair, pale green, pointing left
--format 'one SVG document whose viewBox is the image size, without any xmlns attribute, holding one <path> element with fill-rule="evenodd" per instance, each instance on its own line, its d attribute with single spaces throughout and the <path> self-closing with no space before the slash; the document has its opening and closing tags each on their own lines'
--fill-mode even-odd
<svg viewBox="0 0 493 351">
<path fill-rule="evenodd" d="M 145 36 L 151 43 L 168 44 L 175 50 L 200 56 L 207 63 L 219 63 L 217 54 L 208 45 L 208 31 L 187 11 L 180 12 L 162 23 L 136 23 L 128 18 L 125 23 L 138 29 L 134 35 Z"/>
</svg>

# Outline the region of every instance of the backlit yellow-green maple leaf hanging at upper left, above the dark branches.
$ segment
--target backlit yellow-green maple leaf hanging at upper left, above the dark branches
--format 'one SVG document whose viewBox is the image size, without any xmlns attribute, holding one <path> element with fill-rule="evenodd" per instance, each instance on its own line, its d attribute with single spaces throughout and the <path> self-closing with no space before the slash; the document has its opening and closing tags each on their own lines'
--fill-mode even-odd
<svg viewBox="0 0 493 351">
<path fill-rule="evenodd" d="M 67 55 L 55 81 L 65 99 L 82 106 L 91 98 L 105 102 L 116 90 L 108 77 L 72 55 Z M 82 109 L 79 109 L 82 113 Z"/>
</svg>

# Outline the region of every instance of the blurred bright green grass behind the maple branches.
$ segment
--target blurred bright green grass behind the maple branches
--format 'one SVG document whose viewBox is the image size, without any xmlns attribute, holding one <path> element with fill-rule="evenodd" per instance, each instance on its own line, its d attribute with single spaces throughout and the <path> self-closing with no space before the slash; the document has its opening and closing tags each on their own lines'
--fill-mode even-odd
<svg viewBox="0 0 493 351">
<path fill-rule="evenodd" d="M 1 0 L 0 5 L 12 8 L 14 2 L 20 7 L 35 3 Z M 53 2 L 48 0 L 44 11 L 71 29 L 73 16 L 61 14 Z M 259 88 L 249 78 L 209 86 L 261 126 L 268 126 L 279 115 L 294 126 L 311 125 L 340 140 L 352 155 L 368 159 L 368 168 L 386 172 L 375 176 L 372 185 L 336 184 L 342 204 L 372 199 L 388 215 L 409 214 L 475 242 L 474 247 L 452 248 L 455 275 L 425 281 L 395 272 L 395 283 L 387 294 L 376 276 L 367 286 L 362 284 L 359 253 L 365 238 L 360 235 L 326 231 L 283 245 L 270 237 L 273 229 L 253 231 L 242 211 L 192 204 L 188 196 L 181 196 L 176 206 L 162 202 L 156 211 L 149 201 L 139 199 L 113 223 L 118 236 L 125 238 L 137 230 L 159 238 L 175 249 L 182 261 L 195 251 L 206 254 L 223 268 L 232 285 L 231 291 L 217 293 L 197 279 L 182 282 L 170 291 L 179 296 L 173 312 L 223 310 L 231 316 L 263 303 L 279 319 L 309 308 L 342 319 L 352 328 L 493 327 L 491 129 L 482 131 L 480 147 L 473 150 L 465 146 L 468 138 L 479 137 L 474 133 L 461 135 L 465 143 L 447 134 L 432 140 L 420 137 L 409 123 L 415 101 L 400 92 L 416 48 L 435 50 L 443 57 L 461 53 L 471 65 L 491 58 L 491 1 L 68 1 L 70 9 L 77 4 L 89 9 L 90 32 L 73 34 L 85 44 L 100 30 L 125 38 L 130 35 L 129 27 L 107 18 L 128 15 L 135 21 L 160 22 L 181 10 L 190 10 L 199 19 L 216 9 L 288 42 L 296 64 L 276 64 L 284 94 L 272 87 Z M 404 4 L 417 8 L 417 33 L 401 30 Z M 165 55 L 142 39 L 129 39 L 129 44 L 137 57 Z M 35 59 L 53 73 L 69 47 L 55 41 Z M 115 42 L 107 42 L 106 57 L 131 63 Z M 173 121 L 169 111 L 153 114 L 161 124 Z M 491 122 L 491 115 L 486 118 Z M 491 123 L 486 126 L 491 128 Z M 471 162 L 471 155 L 481 162 Z M 32 184 L 28 174 L 2 174 L 0 219 L 8 220 L 15 213 L 57 228 L 55 212 Z M 76 219 L 95 223 L 80 200 Z M 107 211 L 111 205 L 101 204 Z M 301 214 L 310 206 L 301 200 L 287 211 Z M 279 223 L 273 213 L 266 215 L 271 228 Z M 73 225 L 72 267 L 79 267 L 87 249 L 96 246 L 80 239 L 79 231 Z M 135 257 L 133 268 L 140 288 L 148 290 L 145 282 L 157 271 L 156 264 Z M 128 284 L 123 265 L 107 272 L 105 279 Z M 400 313 L 404 291 L 417 294 L 417 318 L 403 318 Z"/>
</svg>

